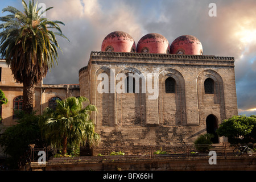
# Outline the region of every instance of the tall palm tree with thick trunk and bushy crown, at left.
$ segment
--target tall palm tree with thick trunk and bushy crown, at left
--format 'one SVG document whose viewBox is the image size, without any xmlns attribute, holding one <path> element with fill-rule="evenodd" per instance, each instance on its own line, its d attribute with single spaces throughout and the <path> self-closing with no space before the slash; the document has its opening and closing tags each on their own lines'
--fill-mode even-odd
<svg viewBox="0 0 256 182">
<path fill-rule="evenodd" d="M 59 44 L 55 35 L 63 35 L 60 21 L 50 21 L 39 14 L 38 3 L 22 0 L 24 11 L 8 6 L 2 12 L 10 15 L 0 17 L 0 54 L 13 72 L 14 79 L 23 83 L 23 110 L 32 113 L 35 85 L 46 77 L 55 62 Z M 38 9 L 38 10 L 37 10 Z"/>
</svg>

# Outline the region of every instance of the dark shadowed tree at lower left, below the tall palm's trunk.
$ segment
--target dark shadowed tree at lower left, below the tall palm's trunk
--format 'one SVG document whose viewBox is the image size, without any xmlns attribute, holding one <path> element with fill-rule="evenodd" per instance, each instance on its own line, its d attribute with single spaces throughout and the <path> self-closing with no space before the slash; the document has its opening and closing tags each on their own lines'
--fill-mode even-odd
<svg viewBox="0 0 256 182">
<path fill-rule="evenodd" d="M 35 114 L 26 114 L 20 111 L 16 114 L 19 119 L 17 124 L 6 127 L 0 137 L 0 144 L 3 152 L 10 156 L 9 162 L 12 168 L 18 167 L 18 161 L 26 151 L 30 149 L 29 144 L 35 144 L 36 147 L 43 147 L 38 121 L 39 116 Z"/>
</svg>

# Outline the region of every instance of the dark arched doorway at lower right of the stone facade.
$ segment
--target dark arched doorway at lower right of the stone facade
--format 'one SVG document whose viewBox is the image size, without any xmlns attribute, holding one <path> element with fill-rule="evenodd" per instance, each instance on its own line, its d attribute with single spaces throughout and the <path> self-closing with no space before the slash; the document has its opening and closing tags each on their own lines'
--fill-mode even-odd
<svg viewBox="0 0 256 182">
<path fill-rule="evenodd" d="M 216 130 L 218 128 L 217 118 L 213 114 L 208 115 L 206 119 L 206 124 L 207 124 L 207 133 L 214 135 L 214 137 L 211 139 L 212 143 L 218 143 L 218 135 L 216 133 Z"/>
</svg>

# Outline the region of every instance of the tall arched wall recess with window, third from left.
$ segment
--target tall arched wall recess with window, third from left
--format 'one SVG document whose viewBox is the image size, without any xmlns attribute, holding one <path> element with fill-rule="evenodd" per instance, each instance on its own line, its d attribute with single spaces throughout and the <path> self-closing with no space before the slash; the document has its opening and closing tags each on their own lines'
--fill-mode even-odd
<svg viewBox="0 0 256 182">
<path fill-rule="evenodd" d="M 166 80 L 175 82 L 174 92 L 166 92 Z M 162 125 L 185 125 L 187 123 L 185 105 L 185 80 L 175 69 L 166 69 L 159 75 L 159 123 Z"/>
</svg>

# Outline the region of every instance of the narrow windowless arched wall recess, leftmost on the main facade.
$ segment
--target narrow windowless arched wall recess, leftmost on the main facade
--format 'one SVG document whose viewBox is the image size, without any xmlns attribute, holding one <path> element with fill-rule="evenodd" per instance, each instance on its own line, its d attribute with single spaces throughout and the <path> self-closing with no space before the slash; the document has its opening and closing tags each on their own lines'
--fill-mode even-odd
<svg viewBox="0 0 256 182">
<path fill-rule="evenodd" d="M 111 84 L 112 70 L 101 67 L 96 71 L 95 79 L 95 102 L 97 107 L 96 125 L 114 126 L 114 85 Z M 114 76 L 113 76 L 114 79 Z"/>
</svg>

